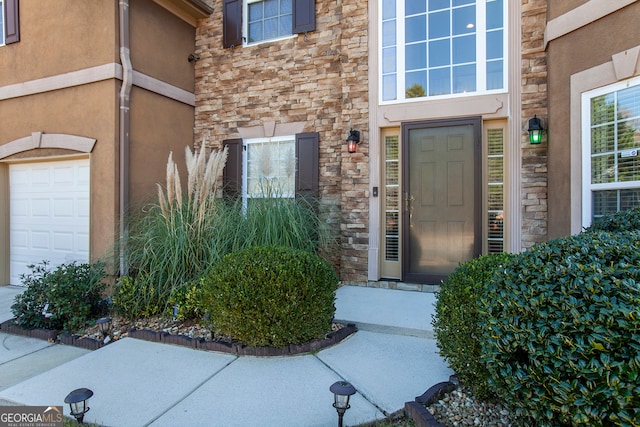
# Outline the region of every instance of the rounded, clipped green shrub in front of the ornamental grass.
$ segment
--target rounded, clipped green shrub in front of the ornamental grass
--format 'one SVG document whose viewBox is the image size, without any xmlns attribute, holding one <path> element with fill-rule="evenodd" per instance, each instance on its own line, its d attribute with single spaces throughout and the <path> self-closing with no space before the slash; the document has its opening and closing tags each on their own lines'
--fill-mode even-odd
<svg viewBox="0 0 640 427">
<path fill-rule="evenodd" d="M 232 253 L 203 284 L 214 330 L 246 345 L 299 344 L 331 328 L 338 276 L 309 252 L 263 246 Z"/>
</svg>

